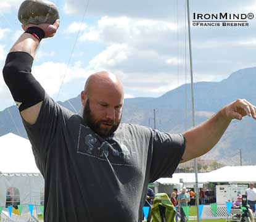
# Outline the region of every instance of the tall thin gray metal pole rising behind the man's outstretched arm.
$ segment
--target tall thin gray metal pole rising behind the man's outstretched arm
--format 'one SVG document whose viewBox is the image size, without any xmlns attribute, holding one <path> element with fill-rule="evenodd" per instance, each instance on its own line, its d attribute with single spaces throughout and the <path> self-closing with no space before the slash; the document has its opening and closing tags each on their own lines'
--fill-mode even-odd
<svg viewBox="0 0 256 222">
<path fill-rule="evenodd" d="M 190 76 L 191 76 L 192 125 L 195 126 L 196 123 L 195 123 L 195 107 L 194 107 L 194 81 L 193 81 L 191 32 L 190 32 L 190 19 L 189 19 L 189 0 L 187 0 L 187 15 L 188 15 L 188 37 L 189 37 L 189 64 L 190 64 Z M 199 222 L 199 189 L 198 189 L 198 177 L 197 177 L 197 173 L 198 173 L 197 158 L 195 158 L 194 164 L 195 164 L 195 176 L 196 176 L 195 188 L 196 188 L 197 222 Z"/>
</svg>

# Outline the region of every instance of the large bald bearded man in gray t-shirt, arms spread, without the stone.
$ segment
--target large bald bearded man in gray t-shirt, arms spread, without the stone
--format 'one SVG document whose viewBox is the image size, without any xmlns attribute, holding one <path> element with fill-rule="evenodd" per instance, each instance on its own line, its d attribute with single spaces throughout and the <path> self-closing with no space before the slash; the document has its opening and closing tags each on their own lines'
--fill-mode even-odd
<svg viewBox="0 0 256 222">
<path fill-rule="evenodd" d="M 59 20 L 23 26 L 3 69 L 44 176 L 44 221 L 141 221 L 148 183 L 212 149 L 233 118 L 256 118 L 255 106 L 238 99 L 183 134 L 120 124 L 123 86 L 109 72 L 88 78 L 81 110 L 72 113 L 31 75 L 39 42 L 58 27 Z"/>
</svg>

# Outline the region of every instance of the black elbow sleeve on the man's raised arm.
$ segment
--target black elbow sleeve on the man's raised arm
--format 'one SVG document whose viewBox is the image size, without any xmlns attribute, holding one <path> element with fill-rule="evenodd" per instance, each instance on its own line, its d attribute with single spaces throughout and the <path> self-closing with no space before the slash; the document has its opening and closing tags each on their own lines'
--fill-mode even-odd
<svg viewBox="0 0 256 222">
<path fill-rule="evenodd" d="M 44 99 L 44 89 L 31 74 L 33 57 L 27 52 L 10 52 L 2 70 L 16 105 L 22 110 Z"/>
</svg>

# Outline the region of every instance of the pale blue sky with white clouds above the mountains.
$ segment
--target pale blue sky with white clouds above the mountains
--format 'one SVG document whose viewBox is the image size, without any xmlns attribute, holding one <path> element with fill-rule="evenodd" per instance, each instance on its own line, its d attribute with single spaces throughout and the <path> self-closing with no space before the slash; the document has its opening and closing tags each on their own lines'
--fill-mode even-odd
<svg viewBox="0 0 256 222">
<path fill-rule="evenodd" d="M 17 19 L 21 2 L 0 1 L 1 67 L 22 33 Z M 77 96 L 86 78 L 99 70 L 120 76 L 126 97 L 157 97 L 189 82 L 185 1 L 52 2 L 60 11 L 60 28 L 54 38 L 41 42 L 32 71 L 54 99 Z M 192 0 L 190 10 L 191 20 L 194 12 L 248 14 L 255 12 L 255 1 Z M 195 81 L 220 81 L 255 66 L 256 20 L 248 23 L 248 27 L 191 27 Z M 0 99 L 0 110 L 14 104 L 2 76 Z"/>
</svg>

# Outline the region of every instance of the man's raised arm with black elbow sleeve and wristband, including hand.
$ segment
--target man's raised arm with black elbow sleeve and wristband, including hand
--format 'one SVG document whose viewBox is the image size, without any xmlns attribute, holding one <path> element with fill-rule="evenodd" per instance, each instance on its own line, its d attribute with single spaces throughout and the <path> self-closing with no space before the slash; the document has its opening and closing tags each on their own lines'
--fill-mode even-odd
<svg viewBox="0 0 256 222">
<path fill-rule="evenodd" d="M 10 49 L 2 73 L 23 119 L 33 125 L 41 109 L 44 89 L 31 75 L 31 67 L 41 39 L 55 35 L 59 20 L 52 25 L 28 24 L 22 28 L 25 33 Z"/>
</svg>

